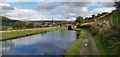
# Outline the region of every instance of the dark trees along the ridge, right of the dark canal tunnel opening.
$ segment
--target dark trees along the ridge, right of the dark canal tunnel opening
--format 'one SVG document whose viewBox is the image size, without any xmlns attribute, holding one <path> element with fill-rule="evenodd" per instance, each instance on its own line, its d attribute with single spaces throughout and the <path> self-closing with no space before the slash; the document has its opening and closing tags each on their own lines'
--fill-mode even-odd
<svg viewBox="0 0 120 57">
<path fill-rule="evenodd" d="M 78 17 L 76 17 L 76 21 L 75 21 L 76 27 L 77 28 L 89 28 L 93 25 L 90 24 L 90 25 L 82 26 L 81 24 L 94 22 L 95 20 L 102 19 L 104 16 L 106 16 L 108 14 L 110 14 L 110 13 L 103 12 L 103 13 L 101 13 L 101 14 L 99 13 L 97 15 L 93 14 L 92 17 L 86 17 L 86 18 L 78 16 Z"/>
</svg>

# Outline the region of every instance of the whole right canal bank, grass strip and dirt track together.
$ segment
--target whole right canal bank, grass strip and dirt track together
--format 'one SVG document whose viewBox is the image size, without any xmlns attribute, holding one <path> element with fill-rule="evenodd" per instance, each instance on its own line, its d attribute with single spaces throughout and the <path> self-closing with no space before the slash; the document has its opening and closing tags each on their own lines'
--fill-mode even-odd
<svg viewBox="0 0 120 57">
<path fill-rule="evenodd" d="M 74 57 L 69 55 L 100 55 L 96 43 L 89 32 L 87 32 L 86 30 L 81 30 L 78 33 L 79 35 L 77 36 L 77 39 L 67 48 L 64 56 Z"/>
</svg>

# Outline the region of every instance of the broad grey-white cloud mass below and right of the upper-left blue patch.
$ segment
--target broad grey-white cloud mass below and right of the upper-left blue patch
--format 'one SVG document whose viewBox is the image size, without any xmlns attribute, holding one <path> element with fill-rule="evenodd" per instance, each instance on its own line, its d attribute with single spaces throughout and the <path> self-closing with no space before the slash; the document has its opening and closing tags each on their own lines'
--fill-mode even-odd
<svg viewBox="0 0 120 57">
<path fill-rule="evenodd" d="M 88 17 L 92 14 L 111 12 L 115 9 L 113 2 L 38 2 L 34 9 L 17 9 L 10 6 L 9 3 L 0 3 L 0 5 L 6 7 L 3 9 L 3 16 L 19 20 L 73 21 L 77 16 Z"/>
</svg>

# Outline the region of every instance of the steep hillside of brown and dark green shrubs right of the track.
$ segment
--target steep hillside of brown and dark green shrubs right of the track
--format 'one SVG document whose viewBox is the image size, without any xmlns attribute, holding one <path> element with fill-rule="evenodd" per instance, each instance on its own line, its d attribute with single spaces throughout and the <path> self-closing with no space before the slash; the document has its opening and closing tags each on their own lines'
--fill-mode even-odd
<svg viewBox="0 0 120 57">
<path fill-rule="evenodd" d="M 115 55 L 120 53 L 120 11 L 114 10 L 109 14 L 93 18 L 90 25 L 92 35 L 102 44 L 106 54 Z M 99 46 L 99 45 L 98 45 Z M 98 47 L 100 48 L 100 47 Z M 101 49 L 101 48 L 100 48 Z"/>
</svg>

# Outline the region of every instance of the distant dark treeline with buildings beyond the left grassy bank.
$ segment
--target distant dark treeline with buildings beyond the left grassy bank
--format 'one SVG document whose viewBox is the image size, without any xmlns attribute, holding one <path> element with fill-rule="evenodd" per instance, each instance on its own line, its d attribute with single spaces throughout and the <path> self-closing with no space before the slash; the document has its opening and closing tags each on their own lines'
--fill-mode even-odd
<svg viewBox="0 0 120 57">
<path fill-rule="evenodd" d="M 65 26 L 66 24 L 74 24 L 72 21 L 20 21 L 12 20 L 4 16 L 0 16 L 1 30 L 14 30 L 14 29 L 30 29 L 42 28 L 52 26 Z"/>
</svg>

